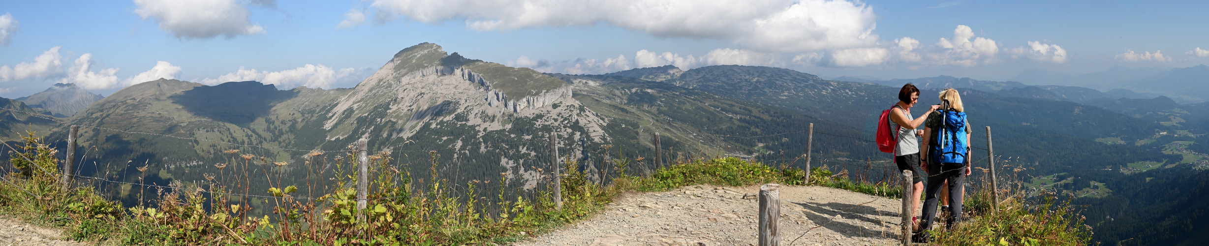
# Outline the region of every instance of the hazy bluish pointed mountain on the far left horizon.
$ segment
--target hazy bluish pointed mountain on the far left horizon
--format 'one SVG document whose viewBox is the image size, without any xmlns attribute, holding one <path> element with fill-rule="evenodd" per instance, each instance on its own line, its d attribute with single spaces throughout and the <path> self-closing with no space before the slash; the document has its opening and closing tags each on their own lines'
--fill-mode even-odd
<svg viewBox="0 0 1209 246">
<path fill-rule="evenodd" d="M 24 101 L 30 107 L 50 111 L 56 117 L 65 118 L 88 109 L 88 105 L 103 98 L 105 96 L 85 90 L 75 83 L 56 83 L 46 90 L 16 100 Z"/>
</svg>

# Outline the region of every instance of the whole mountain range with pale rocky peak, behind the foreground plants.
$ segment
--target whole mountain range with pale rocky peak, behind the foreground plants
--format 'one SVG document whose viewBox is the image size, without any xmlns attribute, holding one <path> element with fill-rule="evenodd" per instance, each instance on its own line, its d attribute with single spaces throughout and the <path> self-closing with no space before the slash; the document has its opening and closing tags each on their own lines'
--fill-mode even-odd
<svg viewBox="0 0 1209 246">
<path fill-rule="evenodd" d="M 941 88 L 959 88 L 974 127 L 971 144 L 987 146 L 984 127 L 991 127 L 995 152 L 1013 157 L 1010 164 L 1020 168 L 1017 175 L 1022 176 L 1068 172 L 1100 182 L 1123 180 L 1127 174 L 1101 169 L 1163 163 L 1179 156 L 1163 153 L 1156 145 L 1098 140 L 1140 142 L 1156 133 L 1187 128 L 1158 121 L 1169 115 L 1156 111 L 1187 112 L 1178 116 L 1187 119 L 1201 119 L 1204 111 L 1173 106 L 1162 98 L 1113 99 L 1111 92 L 1083 87 L 949 76 L 874 80 L 825 80 L 740 65 L 542 74 L 420 43 L 392 55 L 353 88 L 280 90 L 255 81 L 207 86 L 161 78 L 123 88 L 75 113 L 52 112 L 68 117 L 37 113 L 25 102 L 10 100 L 4 109 L 30 113 L 6 111 L 0 127 L 8 131 L 39 127 L 48 133 L 47 141 L 59 142 L 66 125 L 86 125 L 80 130 L 80 146 L 88 146 L 80 150 L 85 158 L 81 175 L 122 182 L 195 182 L 221 172 L 216 163 L 260 159 L 241 174 L 227 174 L 280 171 L 283 183 L 301 183 L 314 175 L 308 171 L 348 174 L 349 165 L 336 163 L 351 159 L 346 151 L 364 137 L 376 158 L 394 159 L 399 170 L 432 171 L 451 183 L 498 180 L 503 174 L 505 183 L 517 188 L 510 191 L 520 194 L 537 186 L 540 170 L 549 170 L 550 134 L 556 134 L 554 145 L 563 158 L 577 160 L 577 169 L 592 178 L 617 175 L 618 166 L 604 162 L 604 154 L 644 157 L 631 165 L 632 174 L 654 168 L 655 133 L 665 160 L 690 154 L 742 156 L 799 165 L 793 159 L 808 148 L 804 131 L 810 123 L 818 133 L 812 156 L 833 169 L 851 168 L 843 166 L 848 160 L 887 160 L 868 140 L 880 111 L 897 101 L 898 87 L 908 82 L 922 89 L 920 105 L 936 104 Z M 44 93 L 76 88 L 62 87 Z M 71 96 L 45 98 L 41 101 Z M 91 151 L 82 152 L 86 148 Z M 254 158 L 237 158 L 230 150 Z M 313 150 L 323 153 L 308 158 Z M 984 157 L 976 151 L 973 158 Z M 268 165 L 274 162 L 285 165 Z M 415 177 L 421 183 L 426 178 Z M 117 191 L 112 197 L 126 204 L 138 201 L 131 186 L 98 186 Z"/>
</svg>

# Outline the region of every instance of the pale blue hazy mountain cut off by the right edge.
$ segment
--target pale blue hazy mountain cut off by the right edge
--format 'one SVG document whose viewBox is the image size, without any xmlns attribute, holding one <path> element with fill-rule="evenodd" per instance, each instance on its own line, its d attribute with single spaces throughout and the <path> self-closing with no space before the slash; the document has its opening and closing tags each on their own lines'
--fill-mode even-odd
<svg viewBox="0 0 1209 246">
<path fill-rule="evenodd" d="M 1113 83 L 1141 93 L 1167 95 L 1182 104 L 1209 101 L 1209 66 L 1172 69 Z"/>
</svg>

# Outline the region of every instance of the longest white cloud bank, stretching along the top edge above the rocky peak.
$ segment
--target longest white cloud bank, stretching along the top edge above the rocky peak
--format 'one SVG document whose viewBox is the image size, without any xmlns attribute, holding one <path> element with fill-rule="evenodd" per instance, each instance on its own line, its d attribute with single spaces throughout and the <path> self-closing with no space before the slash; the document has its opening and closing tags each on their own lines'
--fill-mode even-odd
<svg viewBox="0 0 1209 246">
<path fill-rule="evenodd" d="M 377 20 L 464 20 L 474 30 L 604 23 L 661 37 L 717 39 L 764 52 L 867 47 L 873 7 L 848 0 L 375 0 Z M 364 16 L 346 14 L 349 25 Z"/>
</svg>

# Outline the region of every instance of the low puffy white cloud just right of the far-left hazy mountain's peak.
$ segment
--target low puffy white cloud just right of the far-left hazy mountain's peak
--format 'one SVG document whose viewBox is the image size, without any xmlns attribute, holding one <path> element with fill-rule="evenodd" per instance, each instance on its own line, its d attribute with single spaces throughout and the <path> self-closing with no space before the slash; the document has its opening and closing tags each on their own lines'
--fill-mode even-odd
<svg viewBox="0 0 1209 246">
<path fill-rule="evenodd" d="M 109 68 L 100 69 L 99 71 L 92 71 L 93 65 L 96 64 L 92 60 L 92 53 L 81 54 L 80 58 L 73 63 L 68 76 L 59 80 L 59 82 L 75 83 L 85 89 L 112 89 L 160 78 L 174 80 L 181 71 L 180 66 L 174 66 L 168 62 L 160 60 L 156 62 L 156 65 L 152 66 L 151 70 L 127 77 L 126 80 L 120 80 L 117 77 L 117 71 L 120 69 Z"/>
</svg>

